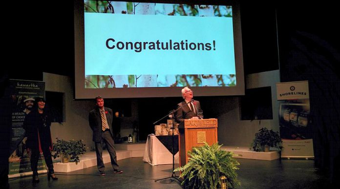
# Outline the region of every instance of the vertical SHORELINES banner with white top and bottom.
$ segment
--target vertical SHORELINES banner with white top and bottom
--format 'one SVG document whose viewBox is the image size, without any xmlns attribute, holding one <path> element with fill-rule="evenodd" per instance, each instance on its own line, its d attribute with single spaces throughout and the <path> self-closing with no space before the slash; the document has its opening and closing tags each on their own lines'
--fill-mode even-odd
<svg viewBox="0 0 340 189">
<path fill-rule="evenodd" d="M 277 83 L 282 158 L 314 158 L 308 81 Z"/>
</svg>

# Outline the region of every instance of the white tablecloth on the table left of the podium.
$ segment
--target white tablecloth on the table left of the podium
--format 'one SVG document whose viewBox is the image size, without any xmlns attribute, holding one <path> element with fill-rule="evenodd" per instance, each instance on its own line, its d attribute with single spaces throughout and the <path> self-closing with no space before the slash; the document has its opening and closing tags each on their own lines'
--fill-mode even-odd
<svg viewBox="0 0 340 189">
<path fill-rule="evenodd" d="M 149 135 L 143 161 L 151 166 L 172 164 L 172 153 L 157 139 L 155 135 Z M 178 152 L 175 154 L 175 164 L 179 163 Z"/>
</svg>

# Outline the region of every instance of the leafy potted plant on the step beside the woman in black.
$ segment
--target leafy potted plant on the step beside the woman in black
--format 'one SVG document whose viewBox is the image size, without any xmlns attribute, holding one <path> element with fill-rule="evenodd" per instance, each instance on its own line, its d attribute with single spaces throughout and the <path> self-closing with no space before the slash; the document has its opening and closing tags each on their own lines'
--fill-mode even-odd
<svg viewBox="0 0 340 189">
<path fill-rule="evenodd" d="M 56 143 L 53 143 L 53 158 L 60 157 L 62 163 L 67 163 L 68 159 L 71 159 L 71 161 L 80 162 L 79 156 L 81 154 L 85 154 L 86 148 L 85 144 L 83 144 L 82 140 L 70 140 L 70 141 L 64 141 L 59 140 L 58 138 Z"/>
</svg>

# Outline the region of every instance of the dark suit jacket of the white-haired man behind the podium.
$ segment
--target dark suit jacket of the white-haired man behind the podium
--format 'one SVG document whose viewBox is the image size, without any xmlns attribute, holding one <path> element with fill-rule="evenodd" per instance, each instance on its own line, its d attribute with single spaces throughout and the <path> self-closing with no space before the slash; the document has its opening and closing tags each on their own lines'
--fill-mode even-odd
<svg viewBox="0 0 340 189">
<path fill-rule="evenodd" d="M 195 112 L 191 111 L 189 108 L 190 104 L 187 104 L 185 101 L 177 104 L 177 108 L 183 106 L 182 108 L 178 109 L 176 112 L 176 122 L 181 123 L 184 119 L 190 119 L 192 117 L 197 116 L 197 109 L 201 109 L 201 105 L 198 101 L 193 101 L 193 108 L 195 108 Z"/>
</svg>

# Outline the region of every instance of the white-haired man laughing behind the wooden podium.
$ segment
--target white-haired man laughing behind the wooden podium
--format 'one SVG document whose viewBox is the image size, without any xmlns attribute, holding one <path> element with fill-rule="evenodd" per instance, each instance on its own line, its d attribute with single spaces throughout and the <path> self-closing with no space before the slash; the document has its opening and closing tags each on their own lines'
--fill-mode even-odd
<svg viewBox="0 0 340 189">
<path fill-rule="evenodd" d="M 199 119 L 198 112 L 202 112 L 201 105 L 192 99 L 193 92 L 189 87 L 182 89 L 182 97 L 184 101 L 177 104 L 176 122 L 180 124 L 184 119 Z"/>
</svg>

